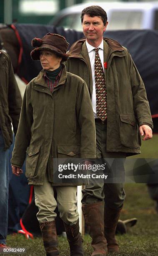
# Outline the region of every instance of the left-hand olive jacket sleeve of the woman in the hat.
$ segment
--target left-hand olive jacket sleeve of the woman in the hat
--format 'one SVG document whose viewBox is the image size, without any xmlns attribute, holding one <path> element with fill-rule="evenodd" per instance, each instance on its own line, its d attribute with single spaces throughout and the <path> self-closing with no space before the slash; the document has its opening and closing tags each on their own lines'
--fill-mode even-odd
<svg viewBox="0 0 158 256">
<path fill-rule="evenodd" d="M 30 145 L 31 126 L 33 124 L 33 108 L 31 105 L 31 82 L 26 87 L 23 104 L 20 113 L 18 131 L 15 137 L 15 145 L 11 164 L 21 167 L 25 161 L 26 149 Z"/>
</svg>

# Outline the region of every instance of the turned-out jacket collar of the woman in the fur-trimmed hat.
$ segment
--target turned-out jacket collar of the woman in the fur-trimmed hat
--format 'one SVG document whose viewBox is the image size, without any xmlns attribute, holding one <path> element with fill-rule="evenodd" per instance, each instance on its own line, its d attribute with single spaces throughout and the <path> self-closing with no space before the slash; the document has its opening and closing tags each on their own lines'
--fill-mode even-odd
<svg viewBox="0 0 158 256">
<path fill-rule="evenodd" d="M 62 65 L 63 65 L 63 71 L 61 73 L 59 83 L 56 87 L 58 87 L 60 84 L 65 84 L 65 81 L 66 81 L 66 78 L 67 78 L 66 67 L 63 63 L 62 63 Z M 42 69 L 40 71 L 40 73 L 38 74 L 38 76 L 35 78 L 35 84 L 39 84 L 39 85 L 42 85 L 44 87 L 48 87 L 47 83 L 45 82 L 45 79 L 44 79 L 44 74 L 45 74 L 45 70 Z M 54 90 L 55 90 L 55 88 L 54 88 Z"/>
</svg>

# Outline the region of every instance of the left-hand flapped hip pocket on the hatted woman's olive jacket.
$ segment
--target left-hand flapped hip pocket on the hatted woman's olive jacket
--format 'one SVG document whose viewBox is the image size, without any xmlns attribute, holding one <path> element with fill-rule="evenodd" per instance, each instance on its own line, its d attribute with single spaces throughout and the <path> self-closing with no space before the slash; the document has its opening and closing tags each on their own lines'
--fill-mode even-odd
<svg viewBox="0 0 158 256">
<path fill-rule="evenodd" d="M 27 150 L 26 157 L 26 177 L 35 176 L 35 171 L 38 163 L 38 158 L 40 155 L 40 145 L 30 145 Z"/>
</svg>

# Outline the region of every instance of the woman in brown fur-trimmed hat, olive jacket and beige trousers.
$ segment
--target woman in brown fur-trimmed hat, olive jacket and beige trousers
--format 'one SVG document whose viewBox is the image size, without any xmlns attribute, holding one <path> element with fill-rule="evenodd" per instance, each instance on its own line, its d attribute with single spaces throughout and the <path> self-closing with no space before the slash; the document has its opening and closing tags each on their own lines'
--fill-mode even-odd
<svg viewBox="0 0 158 256">
<path fill-rule="evenodd" d="M 26 158 L 26 177 L 34 185 L 37 218 L 48 256 L 59 255 L 54 212 L 58 205 L 70 255 L 83 254 L 76 207 L 77 186 L 53 183 L 54 158 L 95 158 L 95 124 L 87 85 L 66 72 L 68 42 L 58 34 L 34 38 L 33 60 L 43 67 L 27 86 L 11 159 L 19 176 Z M 57 192 L 57 201 L 54 198 Z"/>
</svg>

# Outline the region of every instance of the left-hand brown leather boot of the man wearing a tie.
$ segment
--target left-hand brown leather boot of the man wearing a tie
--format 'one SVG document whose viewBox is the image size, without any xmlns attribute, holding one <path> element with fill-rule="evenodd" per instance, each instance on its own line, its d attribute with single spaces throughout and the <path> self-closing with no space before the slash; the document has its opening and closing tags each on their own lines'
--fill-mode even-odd
<svg viewBox="0 0 158 256">
<path fill-rule="evenodd" d="M 92 238 L 94 251 L 91 256 L 106 256 L 108 249 L 104 236 L 103 202 L 83 205 L 82 210 Z"/>
</svg>

